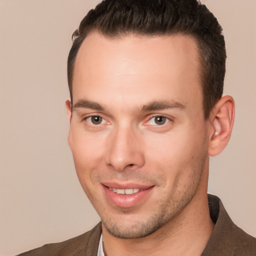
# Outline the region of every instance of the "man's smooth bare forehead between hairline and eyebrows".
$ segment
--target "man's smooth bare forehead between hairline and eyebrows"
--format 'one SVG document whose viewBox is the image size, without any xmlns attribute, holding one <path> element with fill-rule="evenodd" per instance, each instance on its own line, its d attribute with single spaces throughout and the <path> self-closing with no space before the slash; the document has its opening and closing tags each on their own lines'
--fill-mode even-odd
<svg viewBox="0 0 256 256">
<path fill-rule="evenodd" d="M 182 34 L 108 38 L 91 32 L 76 56 L 72 92 L 74 102 L 88 96 L 103 99 L 110 92 L 120 99 L 165 100 L 168 95 L 182 104 L 191 97 L 198 101 L 196 41 Z"/>
</svg>

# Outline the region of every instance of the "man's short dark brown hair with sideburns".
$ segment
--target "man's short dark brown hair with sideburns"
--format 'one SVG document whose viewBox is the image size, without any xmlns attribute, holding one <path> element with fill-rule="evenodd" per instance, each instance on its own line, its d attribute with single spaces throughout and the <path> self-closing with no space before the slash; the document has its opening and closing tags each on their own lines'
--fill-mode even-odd
<svg viewBox="0 0 256 256">
<path fill-rule="evenodd" d="M 108 37 L 171 35 L 182 33 L 196 39 L 201 60 L 203 110 L 208 117 L 223 92 L 225 41 L 214 15 L 197 0 L 103 0 L 91 9 L 72 34 L 67 78 L 72 103 L 74 62 L 81 43 L 92 30 Z"/>
</svg>

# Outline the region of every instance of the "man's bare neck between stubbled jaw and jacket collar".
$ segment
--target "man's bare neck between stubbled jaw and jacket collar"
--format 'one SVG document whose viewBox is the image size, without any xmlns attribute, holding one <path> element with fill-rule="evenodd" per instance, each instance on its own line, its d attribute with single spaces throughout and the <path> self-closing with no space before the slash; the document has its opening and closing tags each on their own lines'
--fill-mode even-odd
<svg viewBox="0 0 256 256">
<path fill-rule="evenodd" d="M 207 179 L 208 173 L 204 171 L 198 189 L 186 207 L 171 221 L 146 237 L 121 239 L 109 234 L 102 226 L 105 256 L 199 256 L 214 227 L 207 202 Z"/>
</svg>

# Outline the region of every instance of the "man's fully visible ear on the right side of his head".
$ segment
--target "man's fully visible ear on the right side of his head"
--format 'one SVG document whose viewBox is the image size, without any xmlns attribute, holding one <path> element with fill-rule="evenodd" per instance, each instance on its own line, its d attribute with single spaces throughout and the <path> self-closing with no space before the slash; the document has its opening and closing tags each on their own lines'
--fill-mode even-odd
<svg viewBox="0 0 256 256">
<path fill-rule="evenodd" d="M 231 136 L 234 123 L 234 100 L 231 96 L 223 96 L 211 110 L 209 129 L 208 155 L 220 153 Z"/>
</svg>

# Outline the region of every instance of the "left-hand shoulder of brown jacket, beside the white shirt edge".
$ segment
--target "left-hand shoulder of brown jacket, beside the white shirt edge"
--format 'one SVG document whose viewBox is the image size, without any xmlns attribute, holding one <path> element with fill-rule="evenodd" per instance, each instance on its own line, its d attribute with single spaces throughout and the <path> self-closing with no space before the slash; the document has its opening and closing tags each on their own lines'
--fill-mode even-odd
<svg viewBox="0 0 256 256">
<path fill-rule="evenodd" d="M 72 256 L 72 255 L 96 255 L 98 243 L 101 234 L 101 223 L 86 233 L 73 237 L 71 239 L 45 244 L 39 248 L 21 253 L 18 256 Z"/>
</svg>

